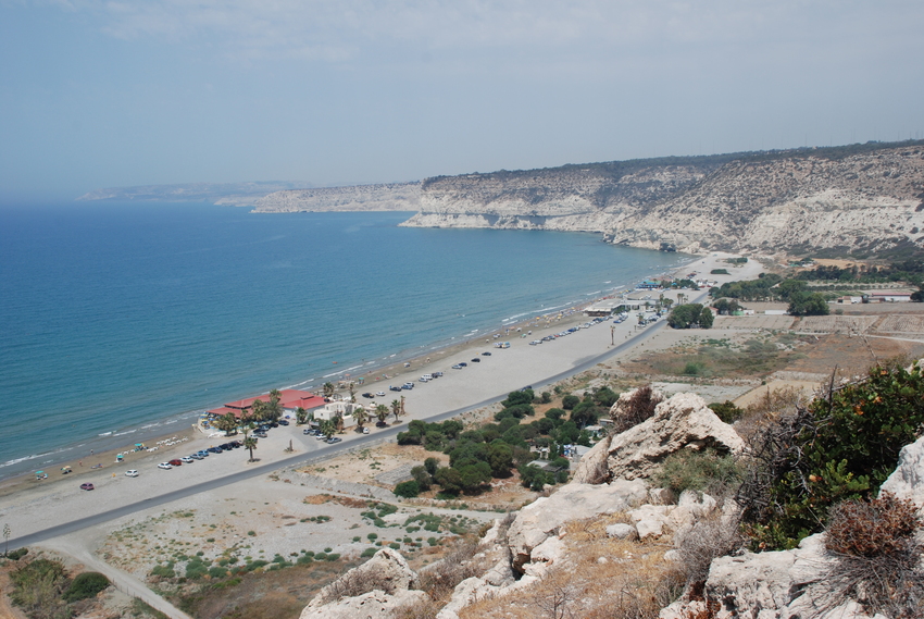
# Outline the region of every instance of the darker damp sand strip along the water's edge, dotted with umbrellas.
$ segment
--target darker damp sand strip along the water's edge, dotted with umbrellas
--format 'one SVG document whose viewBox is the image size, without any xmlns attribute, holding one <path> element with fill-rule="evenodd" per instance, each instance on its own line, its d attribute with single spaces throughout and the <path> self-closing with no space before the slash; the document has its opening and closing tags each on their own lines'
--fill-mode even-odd
<svg viewBox="0 0 924 619">
<path fill-rule="evenodd" d="M 689 255 L 689 259 L 679 260 L 677 264 L 671 267 L 670 269 L 647 275 L 646 278 L 659 277 L 666 274 L 676 274 L 679 271 L 686 271 L 686 269 L 688 269 L 691 264 L 695 264 L 703 258 L 706 257 Z M 422 345 L 417 348 L 400 350 L 387 357 L 387 359 L 394 358 L 391 361 L 385 362 L 386 359 L 379 359 L 378 362 L 366 362 L 365 367 L 369 367 L 369 370 L 366 370 L 365 367 L 358 368 L 357 366 L 352 366 L 347 370 L 337 372 L 336 375 L 328 374 L 320 377 L 310 377 L 302 381 L 298 381 L 292 385 L 286 385 L 277 388 L 305 388 L 312 392 L 320 392 L 321 386 L 324 384 L 321 381 L 323 381 L 325 377 L 328 377 L 329 382 L 338 386 L 337 393 L 345 393 L 346 387 L 341 387 L 339 383 L 346 381 L 357 382 L 362 379 L 362 383 L 358 383 L 355 385 L 357 401 L 362 403 L 363 400 L 359 397 L 359 394 L 364 391 L 370 391 L 372 388 L 372 385 L 377 385 L 377 387 L 372 391 L 387 392 L 387 385 L 389 384 L 389 381 L 391 381 L 390 384 L 401 384 L 405 382 L 408 380 L 408 375 L 415 375 L 419 371 L 421 371 L 421 368 L 423 366 L 427 364 L 430 361 L 430 359 L 434 362 L 438 362 L 440 358 L 451 356 L 466 348 L 473 346 L 479 347 L 479 341 L 482 338 L 488 339 L 488 342 L 484 346 L 487 346 L 489 349 L 492 350 L 495 342 L 522 339 L 519 337 L 519 335 L 526 334 L 528 331 L 530 331 L 530 329 L 545 330 L 551 327 L 554 324 L 563 324 L 565 327 L 567 327 L 571 326 L 572 323 L 586 322 L 586 317 L 584 317 L 582 313 L 583 308 L 594 305 L 595 302 L 598 302 L 600 300 L 630 294 L 632 292 L 634 292 L 632 283 L 620 284 L 610 288 L 607 295 L 594 296 L 586 300 L 582 300 L 572 305 L 563 305 L 548 313 L 540 313 L 542 310 L 536 310 L 526 312 L 526 314 L 532 315 L 527 315 L 526 318 L 522 318 L 520 320 L 502 319 L 502 324 L 500 326 L 496 326 L 491 330 L 479 331 L 477 335 L 471 335 L 470 337 L 466 337 L 464 339 L 459 337 L 458 341 L 453 342 L 453 339 L 457 339 L 457 336 L 450 338 L 449 341 L 444 341 L 442 343 L 429 343 Z M 564 324 L 564 322 L 567 322 L 567 324 Z M 522 331 L 517 332 L 517 329 Z M 495 334 L 498 334 L 499 336 L 495 338 Z M 349 372 L 350 369 L 358 369 L 359 371 Z M 411 380 L 414 381 L 415 379 Z M 314 384 L 315 382 L 319 382 L 319 384 Z M 216 404 L 215 406 L 218 405 Z M 114 430 L 112 436 L 109 437 L 90 437 L 67 445 L 65 447 L 61 447 L 54 451 L 28 456 L 18 460 L 11 461 L 11 465 L 7 466 L 15 466 L 20 462 L 35 462 L 35 466 L 29 467 L 28 469 L 22 470 L 20 472 L 8 474 L 5 476 L 3 475 L 4 467 L 0 467 L 0 496 L 9 495 L 11 492 L 17 492 L 17 490 L 11 490 L 13 487 L 32 487 L 33 485 L 38 483 L 47 484 L 50 483 L 52 480 L 63 480 L 64 478 L 73 478 L 80 470 L 85 470 L 87 468 L 87 462 L 90 460 L 92 460 L 93 463 L 100 463 L 97 462 L 97 460 L 102 458 L 103 461 L 101 463 L 103 465 L 103 467 L 101 468 L 109 469 L 111 466 L 117 463 L 115 461 L 115 455 L 117 453 L 130 450 L 137 443 L 143 443 L 147 446 L 151 446 L 155 445 L 160 441 L 163 441 L 177 434 L 188 435 L 189 432 L 195 432 L 197 428 L 196 422 L 198 421 L 199 417 L 204 412 L 204 410 L 205 409 L 172 413 L 159 420 L 155 424 L 151 424 L 157 425 L 157 428 L 150 428 L 148 432 L 145 432 L 145 430 L 147 429 L 145 426 L 120 428 L 117 430 Z M 205 436 L 201 433 L 198 433 L 198 435 L 200 437 Z M 118 442 L 121 446 L 112 446 L 112 438 L 114 438 L 115 436 L 125 436 L 125 443 Z M 77 453 L 77 449 L 80 448 L 83 448 L 83 450 L 85 451 L 84 454 Z M 80 461 L 84 461 L 83 467 L 78 463 Z M 126 460 L 126 462 L 128 460 Z M 72 467 L 73 473 L 66 475 L 61 474 L 61 467 L 65 465 L 70 465 Z M 48 473 L 48 479 L 43 480 L 42 482 L 37 482 L 34 479 L 36 470 L 45 470 L 45 472 Z"/>
</svg>

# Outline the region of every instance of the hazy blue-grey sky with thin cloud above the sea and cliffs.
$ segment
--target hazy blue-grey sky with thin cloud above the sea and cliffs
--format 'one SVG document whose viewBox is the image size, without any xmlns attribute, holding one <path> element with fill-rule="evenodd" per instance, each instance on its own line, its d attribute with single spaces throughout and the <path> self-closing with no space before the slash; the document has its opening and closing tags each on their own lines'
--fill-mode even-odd
<svg viewBox="0 0 924 619">
<path fill-rule="evenodd" d="M 0 0 L 0 203 L 924 138 L 921 0 Z"/>
</svg>

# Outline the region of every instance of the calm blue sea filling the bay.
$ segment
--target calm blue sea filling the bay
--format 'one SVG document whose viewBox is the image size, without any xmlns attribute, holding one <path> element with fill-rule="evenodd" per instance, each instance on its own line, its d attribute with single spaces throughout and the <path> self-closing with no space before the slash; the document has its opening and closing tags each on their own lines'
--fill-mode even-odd
<svg viewBox="0 0 924 619">
<path fill-rule="evenodd" d="M 0 207 L 0 479 L 632 286 L 688 257 L 412 213 Z"/>
</svg>

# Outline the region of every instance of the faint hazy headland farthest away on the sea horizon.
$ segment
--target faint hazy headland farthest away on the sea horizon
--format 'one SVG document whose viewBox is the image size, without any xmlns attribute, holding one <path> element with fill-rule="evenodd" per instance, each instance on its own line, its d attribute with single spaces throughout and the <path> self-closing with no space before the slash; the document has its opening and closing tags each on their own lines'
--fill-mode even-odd
<svg viewBox="0 0 924 619">
<path fill-rule="evenodd" d="M 78 200 L 157 200 L 162 202 L 201 201 L 233 207 L 253 207 L 257 200 L 274 191 L 303 188 L 304 183 L 264 181 L 255 183 L 188 183 L 182 185 L 142 185 L 111 187 L 84 194 Z"/>
</svg>

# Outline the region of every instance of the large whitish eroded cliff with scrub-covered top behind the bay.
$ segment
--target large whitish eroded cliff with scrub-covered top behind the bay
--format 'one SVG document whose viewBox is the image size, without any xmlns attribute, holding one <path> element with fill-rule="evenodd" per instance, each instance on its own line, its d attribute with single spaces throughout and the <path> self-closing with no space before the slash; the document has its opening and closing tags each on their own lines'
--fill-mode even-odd
<svg viewBox="0 0 924 619">
<path fill-rule="evenodd" d="M 921 146 L 644 163 L 427 179 L 403 225 L 601 232 L 690 252 L 924 248 Z"/>
</svg>

